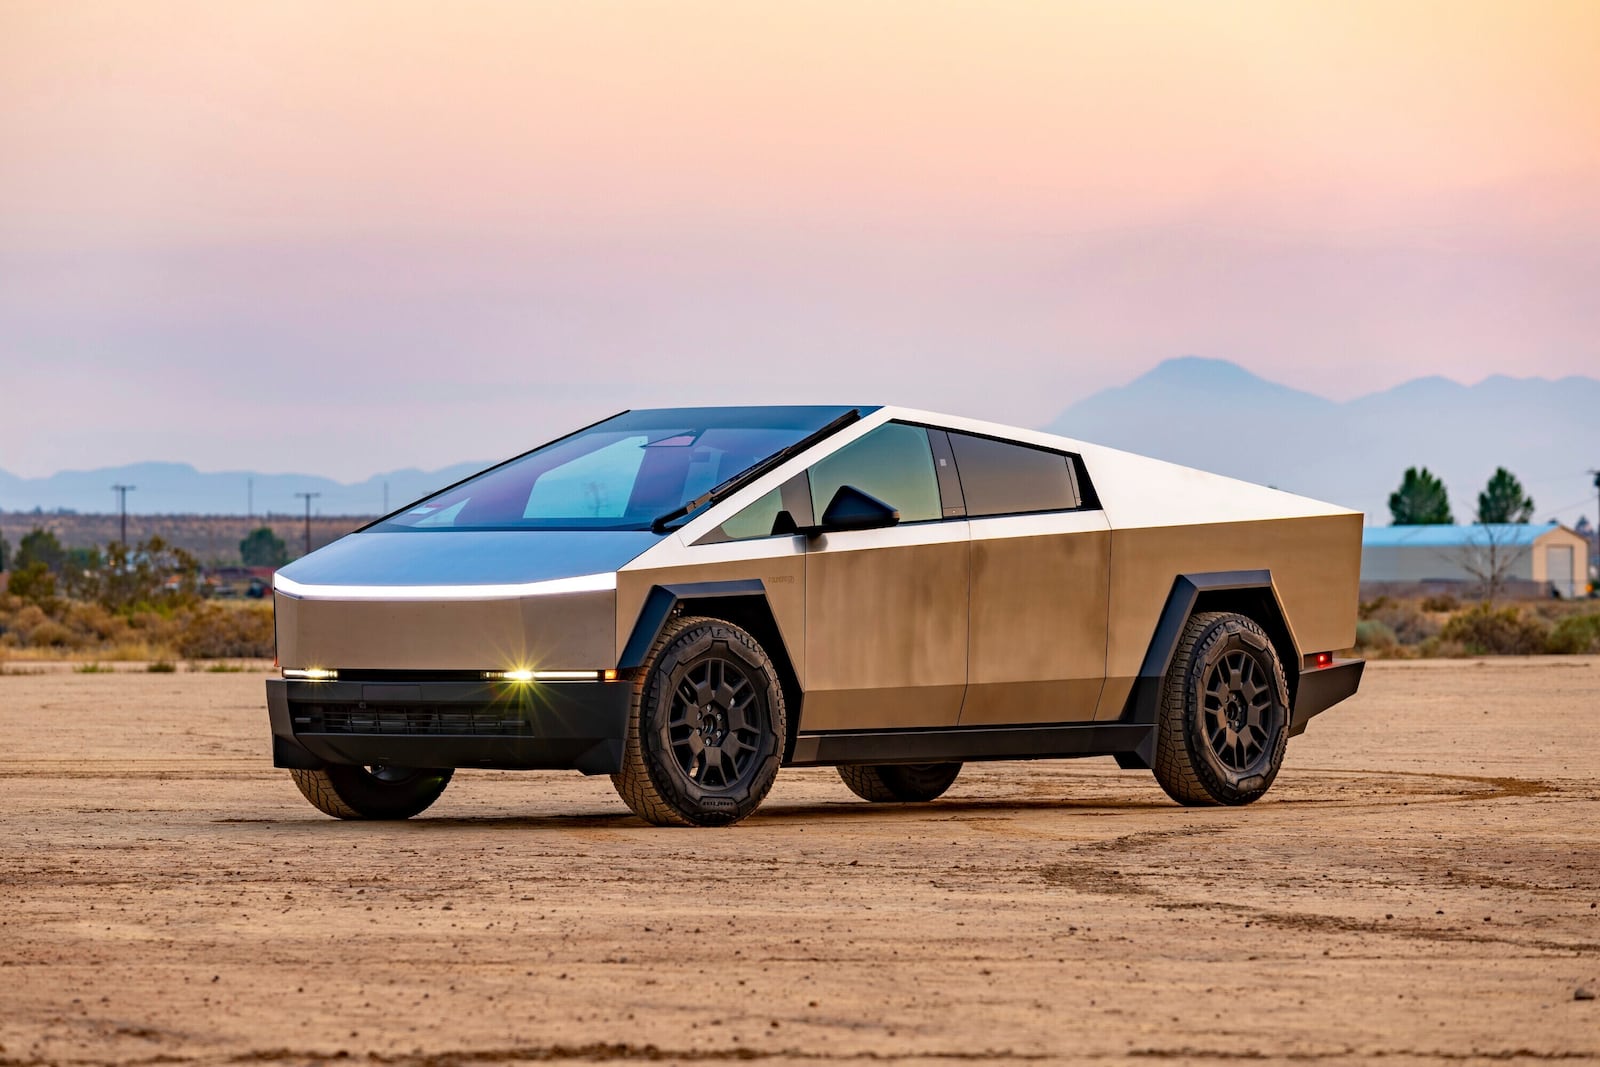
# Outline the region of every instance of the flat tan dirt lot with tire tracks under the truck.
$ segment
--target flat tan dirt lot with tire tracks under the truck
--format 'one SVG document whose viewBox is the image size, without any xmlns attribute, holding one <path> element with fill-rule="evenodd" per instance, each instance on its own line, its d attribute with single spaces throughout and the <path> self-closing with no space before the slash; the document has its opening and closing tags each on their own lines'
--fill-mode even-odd
<svg viewBox="0 0 1600 1067">
<path fill-rule="evenodd" d="M 1374 664 L 1245 809 L 1093 760 L 363 825 L 267 766 L 261 675 L 0 677 L 0 1064 L 1600 1059 L 1597 715 L 1600 659 Z"/>
</svg>

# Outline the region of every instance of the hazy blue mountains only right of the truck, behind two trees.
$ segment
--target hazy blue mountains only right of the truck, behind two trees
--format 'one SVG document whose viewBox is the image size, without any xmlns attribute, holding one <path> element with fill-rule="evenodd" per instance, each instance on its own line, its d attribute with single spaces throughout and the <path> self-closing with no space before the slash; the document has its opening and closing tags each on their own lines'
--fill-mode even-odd
<svg viewBox="0 0 1600 1067">
<path fill-rule="evenodd" d="M 1506 467 L 1538 522 L 1573 525 L 1595 514 L 1586 472 L 1600 467 L 1600 381 L 1419 378 L 1339 403 L 1184 357 L 1080 400 L 1045 429 L 1354 507 L 1370 525 L 1389 523 L 1406 467 L 1445 480 L 1456 522 L 1472 522 L 1477 494 Z"/>
</svg>

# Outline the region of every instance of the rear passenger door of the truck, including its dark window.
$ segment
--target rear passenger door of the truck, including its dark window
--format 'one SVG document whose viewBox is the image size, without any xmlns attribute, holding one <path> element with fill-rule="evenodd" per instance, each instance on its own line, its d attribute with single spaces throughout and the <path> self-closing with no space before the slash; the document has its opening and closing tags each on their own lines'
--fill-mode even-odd
<svg viewBox="0 0 1600 1067">
<path fill-rule="evenodd" d="M 1094 718 L 1106 678 L 1110 525 L 1082 461 L 955 430 L 947 440 L 971 533 L 960 725 Z"/>
</svg>

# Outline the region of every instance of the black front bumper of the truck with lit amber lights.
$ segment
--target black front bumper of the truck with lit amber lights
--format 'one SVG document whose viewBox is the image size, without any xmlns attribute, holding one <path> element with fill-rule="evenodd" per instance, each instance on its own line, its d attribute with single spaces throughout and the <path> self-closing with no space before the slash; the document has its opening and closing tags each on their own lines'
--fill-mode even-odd
<svg viewBox="0 0 1600 1067">
<path fill-rule="evenodd" d="M 267 680 L 272 765 L 576 769 L 622 766 L 621 681 Z"/>
</svg>

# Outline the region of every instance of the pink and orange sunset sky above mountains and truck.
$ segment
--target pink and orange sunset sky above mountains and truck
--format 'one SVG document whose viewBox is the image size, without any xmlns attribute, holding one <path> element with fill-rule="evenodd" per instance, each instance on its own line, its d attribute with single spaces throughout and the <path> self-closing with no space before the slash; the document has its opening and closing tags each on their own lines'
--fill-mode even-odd
<svg viewBox="0 0 1600 1067">
<path fill-rule="evenodd" d="M 1600 3 L 0 0 L 0 469 L 1600 376 Z"/>
</svg>

